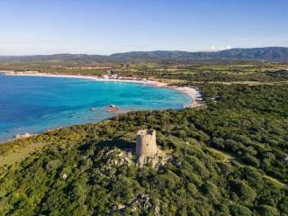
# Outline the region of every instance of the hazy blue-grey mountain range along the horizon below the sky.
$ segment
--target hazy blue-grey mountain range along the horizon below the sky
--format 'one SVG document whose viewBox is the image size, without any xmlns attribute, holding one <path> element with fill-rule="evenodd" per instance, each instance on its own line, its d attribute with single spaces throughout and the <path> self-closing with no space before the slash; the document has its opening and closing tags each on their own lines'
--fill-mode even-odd
<svg viewBox="0 0 288 216">
<path fill-rule="evenodd" d="M 0 56 L 0 61 L 139 61 L 139 60 L 264 60 L 288 62 L 288 48 L 267 47 L 251 49 L 225 49 L 214 52 L 188 51 L 131 51 L 110 56 L 86 54 L 55 54 L 37 56 Z"/>
</svg>

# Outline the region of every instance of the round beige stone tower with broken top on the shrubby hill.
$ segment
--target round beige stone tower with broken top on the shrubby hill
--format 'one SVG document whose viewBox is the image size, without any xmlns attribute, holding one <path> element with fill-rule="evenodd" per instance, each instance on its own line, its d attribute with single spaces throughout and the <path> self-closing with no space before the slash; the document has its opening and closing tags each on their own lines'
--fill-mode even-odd
<svg viewBox="0 0 288 216">
<path fill-rule="evenodd" d="M 153 157 L 157 154 L 156 130 L 138 131 L 136 154 L 140 157 Z"/>
</svg>

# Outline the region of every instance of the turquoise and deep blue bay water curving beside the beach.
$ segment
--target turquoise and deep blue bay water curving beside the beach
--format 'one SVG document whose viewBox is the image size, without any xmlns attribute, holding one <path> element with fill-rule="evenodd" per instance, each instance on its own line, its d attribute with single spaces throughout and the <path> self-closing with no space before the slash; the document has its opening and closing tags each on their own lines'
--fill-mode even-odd
<svg viewBox="0 0 288 216">
<path fill-rule="evenodd" d="M 4 76 L 0 73 L 0 141 L 78 123 L 102 121 L 123 111 L 178 109 L 191 99 L 172 89 L 79 78 Z M 90 112 L 95 107 L 96 112 Z"/>
</svg>

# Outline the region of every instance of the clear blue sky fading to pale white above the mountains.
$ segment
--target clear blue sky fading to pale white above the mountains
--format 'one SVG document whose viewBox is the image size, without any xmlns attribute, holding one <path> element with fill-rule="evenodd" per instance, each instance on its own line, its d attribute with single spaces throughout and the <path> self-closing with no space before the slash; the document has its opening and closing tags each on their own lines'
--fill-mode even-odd
<svg viewBox="0 0 288 216">
<path fill-rule="evenodd" d="M 1 0 L 0 55 L 288 47 L 287 0 Z"/>
</svg>

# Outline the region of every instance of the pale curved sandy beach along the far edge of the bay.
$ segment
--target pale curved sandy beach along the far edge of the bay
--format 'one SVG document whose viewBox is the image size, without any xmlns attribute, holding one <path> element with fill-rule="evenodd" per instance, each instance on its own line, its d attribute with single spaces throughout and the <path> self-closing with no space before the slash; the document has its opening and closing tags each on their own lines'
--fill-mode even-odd
<svg viewBox="0 0 288 216">
<path fill-rule="evenodd" d="M 184 108 L 196 108 L 201 106 L 199 102 L 202 100 L 202 96 L 200 91 L 196 90 L 193 87 L 188 86 L 177 86 L 177 85 L 167 85 L 164 82 L 160 82 L 157 80 L 147 80 L 147 79 L 131 79 L 130 77 L 121 76 L 121 78 L 101 78 L 98 76 L 83 76 L 83 75 L 60 75 L 60 74 L 48 74 L 48 73 L 39 73 L 37 71 L 0 71 L 4 74 L 4 76 L 40 76 L 40 77 L 58 77 L 58 78 L 82 78 L 82 79 L 90 79 L 98 82 L 125 82 L 125 83 L 137 83 L 143 85 L 151 85 L 158 88 L 170 88 L 178 91 L 182 94 L 186 94 L 192 102 L 188 105 L 184 105 Z"/>
</svg>

